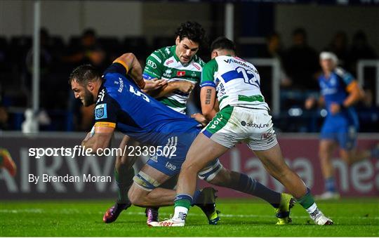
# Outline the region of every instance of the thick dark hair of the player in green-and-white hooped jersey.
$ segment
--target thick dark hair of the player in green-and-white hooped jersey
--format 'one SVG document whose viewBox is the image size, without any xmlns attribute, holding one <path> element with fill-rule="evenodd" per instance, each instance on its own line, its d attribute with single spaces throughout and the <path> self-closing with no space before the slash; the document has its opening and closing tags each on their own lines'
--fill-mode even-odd
<svg viewBox="0 0 379 238">
<path fill-rule="evenodd" d="M 184 22 L 176 29 L 175 36 L 179 37 L 180 41 L 183 38 L 188 38 L 203 46 L 206 41 L 205 29 L 198 22 Z"/>
</svg>

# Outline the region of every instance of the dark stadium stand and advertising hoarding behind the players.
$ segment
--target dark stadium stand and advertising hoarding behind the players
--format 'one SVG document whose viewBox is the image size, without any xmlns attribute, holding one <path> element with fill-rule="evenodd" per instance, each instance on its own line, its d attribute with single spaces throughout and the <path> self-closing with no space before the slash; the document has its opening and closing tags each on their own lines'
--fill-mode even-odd
<svg viewBox="0 0 379 238">
<path fill-rule="evenodd" d="M 133 52 L 145 65 L 157 48 L 175 44 L 181 22 L 196 20 L 211 42 L 226 35 L 237 54 L 260 72 L 262 92 L 288 164 L 316 193 L 324 190 L 318 159 L 318 137 L 325 110 L 305 110 L 317 95 L 318 55 L 333 51 L 366 96 L 357 111 L 359 148 L 379 138 L 379 6 L 378 1 L 0 1 L 0 147 L 11 151 L 18 176 L 0 172 L 1 198 L 115 197 L 112 186 L 27 183 L 29 173 L 113 173 L 113 158 L 29 157 L 29 147 L 78 145 L 93 125 L 93 107 L 74 100 L 69 72 L 91 63 L 105 70 L 114 58 Z M 35 68 L 33 37 L 39 36 Z M 207 46 L 199 52 L 209 60 Z M 38 57 L 36 57 L 38 58 Z M 37 70 L 34 70 L 37 69 Z M 38 83 L 39 80 L 39 83 Z M 37 83 L 35 83 L 37 82 Z M 195 88 L 188 113 L 199 111 Z M 22 134 L 25 111 L 32 109 L 39 133 Z M 153 117 L 154 115 L 151 115 Z M 338 157 L 338 154 L 335 154 Z M 246 147 L 222 157 L 225 166 L 243 171 L 276 190 L 283 187 L 265 173 Z M 336 159 L 338 187 L 345 196 L 378 196 L 377 160 L 346 166 Z M 225 197 L 241 194 L 220 190 Z"/>
</svg>

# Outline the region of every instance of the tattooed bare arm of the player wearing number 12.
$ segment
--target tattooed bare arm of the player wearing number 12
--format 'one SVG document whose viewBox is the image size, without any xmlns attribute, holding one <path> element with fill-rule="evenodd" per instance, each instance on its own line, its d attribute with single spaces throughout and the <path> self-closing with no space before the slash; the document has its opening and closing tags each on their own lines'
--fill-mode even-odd
<svg viewBox="0 0 379 238">
<path fill-rule="evenodd" d="M 200 91 L 201 112 L 206 119 L 211 121 L 217 111 L 215 110 L 215 88 L 211 86 L 204 86 Z"/>
</svg>

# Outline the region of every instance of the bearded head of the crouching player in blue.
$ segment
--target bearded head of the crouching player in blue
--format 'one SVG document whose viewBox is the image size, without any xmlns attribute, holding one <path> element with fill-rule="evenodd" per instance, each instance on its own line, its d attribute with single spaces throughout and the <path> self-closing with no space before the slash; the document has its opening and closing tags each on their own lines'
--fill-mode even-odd
<svg viewBox="0 0 379 238">
<path fill-rule="evenodd" d="M 75 98 L 80 98 L 85 107 L 95 103 L 101 82 L 100 73 L 92 65 L 81 65 L 69 74 L 69 84 Z"/>
</svg>

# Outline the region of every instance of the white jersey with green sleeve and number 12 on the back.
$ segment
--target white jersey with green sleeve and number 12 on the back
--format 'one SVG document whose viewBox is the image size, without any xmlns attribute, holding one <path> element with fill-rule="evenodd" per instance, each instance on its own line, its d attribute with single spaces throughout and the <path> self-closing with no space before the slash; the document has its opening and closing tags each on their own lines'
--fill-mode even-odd
<svg viewBox="0 0 379 238">
<path fill-rule="evenodd" d="M 258 70 L 241 58 L 222 55 L 206 63 L 200 86 L 216 89 L 220 110 L 227 105 L 270 110 L 260 92 Z"/>
</svg>

